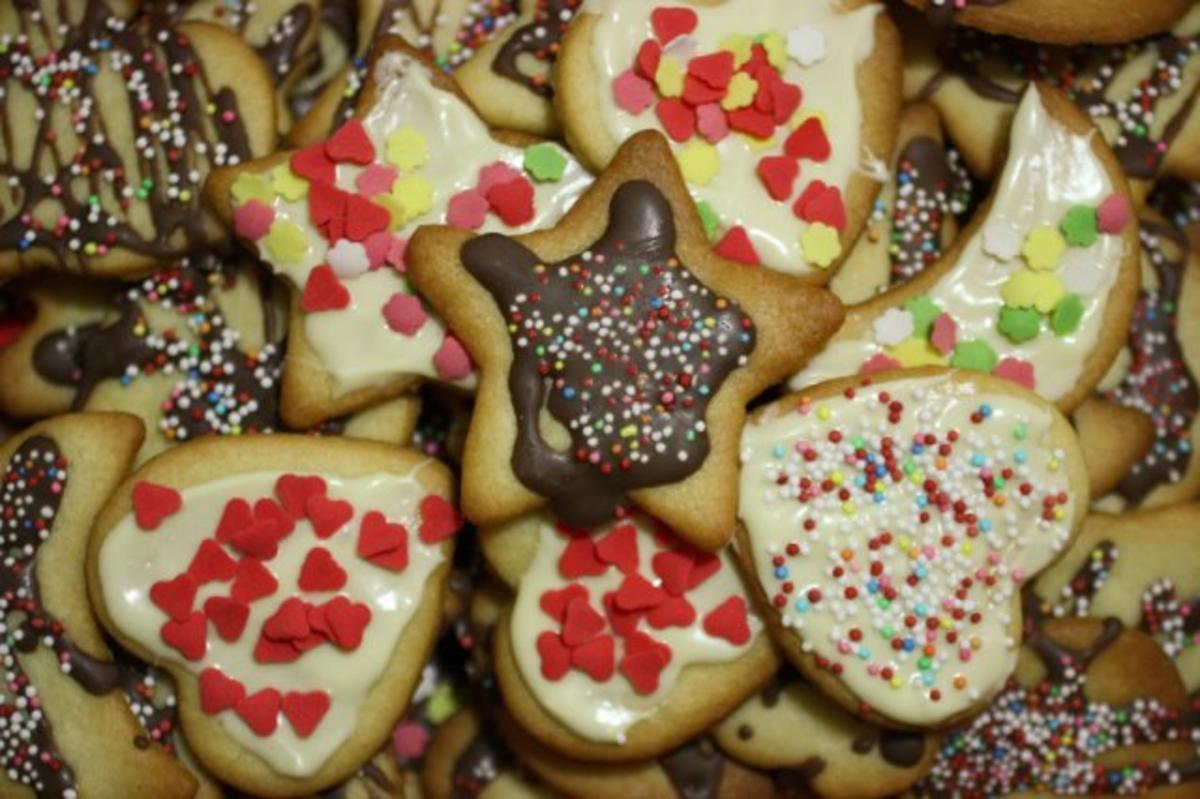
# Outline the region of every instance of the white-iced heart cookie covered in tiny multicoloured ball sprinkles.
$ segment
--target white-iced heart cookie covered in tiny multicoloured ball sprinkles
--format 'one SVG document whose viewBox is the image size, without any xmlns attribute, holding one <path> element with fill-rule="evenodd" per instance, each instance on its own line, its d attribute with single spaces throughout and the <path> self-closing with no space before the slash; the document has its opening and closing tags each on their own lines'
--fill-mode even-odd
<svg viewBox="0 0 1200 799">
<path fill-rule="evenodd" d="M 851 378 L 751 417 L 737 548 L 805 678 L 869 721 L 940 729 L 1012 673 L 1020 589 L 1070 545 L 1087 489 L 1066 417 L 1007 380 Z"/>
</svg>

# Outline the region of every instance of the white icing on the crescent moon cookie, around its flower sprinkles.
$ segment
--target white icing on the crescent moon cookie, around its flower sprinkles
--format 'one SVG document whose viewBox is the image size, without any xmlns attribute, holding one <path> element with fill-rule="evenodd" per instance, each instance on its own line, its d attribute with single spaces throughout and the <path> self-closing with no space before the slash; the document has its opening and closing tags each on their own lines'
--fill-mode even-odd
<svg viewBox="0 0 1200 799">
<path fill-rule="evenodd" d="M 1066 336 L 1057 336 L 1043 325 L 1037 338 L 1014 344 L 996 329 L 996 319 L 1004 306 L 1001 288 L 1013 272 L 1024 268 L 1024 260 L 1019 256 L 1008 260 L 996 258 L 1013 250 L 1012 240 L 1002 232 L 1012 228 L 1024 240 L 1038 226 L 1057 227 L 1074 205 L 1099 205 L 1112 191 L 1104 164 L 1092 151 L 1091 134 L 1068 131 L 1050 116 L 1037 90 L 1030 89 L 1013 120 L 1008 163 L 996 184 L 982 233 L 966 242 L 954 268 L 925 293 L 954 318 L 959 341 L 983 340 L 1001 359 L 1018 358 L 1032 364 L 1037 392 L 1051 401 L 1075 388 L 1087 354 L 1099 341 L 1109 294 L 1124 258 L 1124 242 L 1118 235 L 1100 234 L 1091 247 L 1068 250 L 1060 277 L 1074 259 L 1092 264 L 1094 272 L 1086 281 L 1078 280 L 1078 266 L 1067 272 L 1075 288 L 1093 287 L 1080 295 L 1082 322 Z M 872 355 L 886 352 L 874 341 L 872 332 L 868 326 L 858 334 L 859 338 L 835 338 L 792 377 L 791 386 L 799 390 L 858 372 Z"/>
</svg>

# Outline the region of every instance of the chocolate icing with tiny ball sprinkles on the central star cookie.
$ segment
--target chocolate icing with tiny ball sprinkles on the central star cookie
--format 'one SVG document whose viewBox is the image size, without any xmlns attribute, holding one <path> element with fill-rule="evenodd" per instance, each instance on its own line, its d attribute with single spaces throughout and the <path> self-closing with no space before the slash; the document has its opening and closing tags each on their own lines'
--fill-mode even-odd
<svg viewBox="0 0 1200 799">
<path fill-rule="evenodd" d="M 666 197 L 630 181 L 604 236 L 563 262 L 544 265 L 500 234 L 462 248 L 515 331 L 514 470 L 569 524 L 601 524 L 629 491 L 696 471 L 708 402 L 754 349 L 750 318 L 697 281 L 674 246 Z M 569 451 L 542 438 L 542 408 L 570 433 Z"/>
</svg>

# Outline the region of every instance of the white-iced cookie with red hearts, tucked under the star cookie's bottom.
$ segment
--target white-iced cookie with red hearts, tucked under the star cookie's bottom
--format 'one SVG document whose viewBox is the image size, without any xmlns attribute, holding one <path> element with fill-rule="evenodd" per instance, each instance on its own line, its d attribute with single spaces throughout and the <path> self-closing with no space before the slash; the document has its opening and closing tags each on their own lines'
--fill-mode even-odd
<svg viewBox="0 0 1200 799">
<path fill-rule="evenodd" d="M 494 631 L 504 704 L 563 755 L 659 757 L 779 663 L 732 553 L 696 549 L 648 516 L 581 529 L 536 513 L 481 543 L 516 593 Z"/>
</svg>

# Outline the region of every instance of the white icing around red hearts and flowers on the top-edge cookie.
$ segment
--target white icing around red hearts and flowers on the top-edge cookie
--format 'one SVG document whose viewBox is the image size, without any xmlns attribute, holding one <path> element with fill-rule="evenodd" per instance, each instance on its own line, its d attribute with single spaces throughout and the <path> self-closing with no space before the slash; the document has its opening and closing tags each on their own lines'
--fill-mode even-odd
<svg viewBox="0 0 1200 799">
<path fill-rule="evenodd" d="M 653 108 L 632 116 L 617 106 L 611 89 L 613 79 L 634 65 L 642 42 L 653 37 L 650 12 L 658 6 L 647 0 L 587 0 L 582 8 L 582 13 L 598 16 L 593 34 L 593 59 L 601 84 L 596 114 L 617 142 L 638 131 L 661 130 Z M 812 180 L 836 186 L 845 196 L 851 176 L 859 169 L 863 108 L 856 74 L 858 65 L 875 49 L 875 19 L 882 6 L 869 5 L 848 13 L 839 13 L 834 0 L 726 0 L 712 7 L 692 7 L 700 25 L 689 38 L 698 43 L 700 54 L 715 52 L 731 34 L 774 31 L 786 37 L 800 26 L 812 31 L 803 34 L 808 52 L 815 52 L 811 42 L 816 34 L 822 36 L 822 46 L 829 42 L 823 58 L 808 66 L 791 60 L 784 72 L 784 78 L 804 92 L 799 115 L 818 113 L 833 145 L 828 161 L 802 163 L 796 197 L 787 203 L 773 200 L 756 172 L 763 156 L 781 151 L 791 133 L 787 126 L 776 131 L 775 146 L 769 149 L 738 134 L 724 139 L 716 145 L 720 172 L 707 186 L 691 186 L 692 196 L 697 202 L 708 202 L 724 227 L 745 227 L 763 264 L 784 272 L 812 274 L 817 270 L 805 263 L 800 247 L 808 223 L 792 212 L 792 202 Z M 679 150 L 682 145 L 673 146 Z"/>
</svg>

